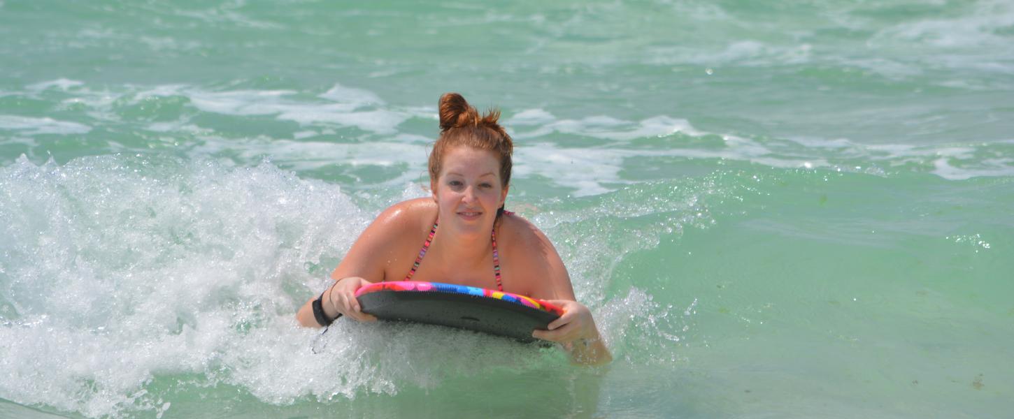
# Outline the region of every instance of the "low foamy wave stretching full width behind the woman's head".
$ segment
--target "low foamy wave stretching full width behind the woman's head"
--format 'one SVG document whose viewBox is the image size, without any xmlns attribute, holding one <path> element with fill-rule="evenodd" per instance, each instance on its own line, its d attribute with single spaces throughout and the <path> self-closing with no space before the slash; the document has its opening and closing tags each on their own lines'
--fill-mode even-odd
<svg viewBox="0 0 1014 419">
<path fill-rule="evenodd" d="M 49 148 L 42 141 L 47 136 L 96 135 L 116 128 L 133 132 L 136 142 L 108 141 L 105 152 L 163 150 L 190 158 L 228 157 L 242 165 L 269 158 L 311 176 L 341 173 L 357 184 L 400 186 L 421 179 L 435 131 L 422 129 L 433 124 L 435 107 L 390 104 L 373 92 L 340 84 L 317 94 L 191 85 L 111 91 L 58 79 L 13 94 L 75 109 L 73 120 L 0 115 L 0 133 L 17 139 L 31 160 L 47 158 L 44 151 Z M 695 161 L 888 176 L 921 172 L 951 180 L 1014 174 L 1009 141 L 870 144 L 847 138 L 709 132 L 686 118 L 664 114 L 568 118 L 545 108 L 505 113 L 504 123 L 517 141 L 517 179 L 548 181 L 576 196 L 646 180 L 646 167 L 664 178 L 678 173 L 672 167 Z M 273 134 L 209 125 L 208 115 L 260 123 L 265 127 L 261 132 Z M 10 163 L 13 156 L 6 159 Z M 377 170 L 365 175 L 364 168 Z"/>
</svg>

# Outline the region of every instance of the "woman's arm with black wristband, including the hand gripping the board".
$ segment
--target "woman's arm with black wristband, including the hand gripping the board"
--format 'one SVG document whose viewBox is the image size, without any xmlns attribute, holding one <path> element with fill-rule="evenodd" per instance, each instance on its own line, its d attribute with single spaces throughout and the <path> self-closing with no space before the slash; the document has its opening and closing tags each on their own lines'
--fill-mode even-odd
<svg viewBox="0 0 1014 419">
<path fill-rule="evenodd" d="M 411 231 L 412 215 L 416 210 L 406 201 L 396 203 L 379 216 L 363 231 L 353 243 L 349 253 L 342 258 L 331 277 L 335 283 L 323 292 L 320 306 L 329 319 L 339 314 L 361 322 L 376 320 L 375 317 L 362 313 L 359 301 L 355 298 L 356 289 L 384 279 L 384 267 L 392 260 L 397 260 L 396 249 L 390 243 L 397 243 L 400 234 Z M 313 318 L 312 303 L 320 295 L 314 295 L 296 312 L 296 320 L 303 327 L 321 327 Z"/>
</svg>

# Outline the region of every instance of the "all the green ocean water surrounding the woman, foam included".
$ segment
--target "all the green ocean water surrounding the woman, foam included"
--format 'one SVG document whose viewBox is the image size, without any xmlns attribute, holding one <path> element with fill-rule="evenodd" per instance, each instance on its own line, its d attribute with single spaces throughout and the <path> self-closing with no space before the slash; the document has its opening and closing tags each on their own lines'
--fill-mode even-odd
<svg viewBox="0 0 1014 419">
<path fill-rule="evenodd" d="M 610 365 L 295 326 L 448 91 Z M 1010 417 L 1012 249 L 1010 1 L 0 0 L 0 417 Z"/>
</svg>

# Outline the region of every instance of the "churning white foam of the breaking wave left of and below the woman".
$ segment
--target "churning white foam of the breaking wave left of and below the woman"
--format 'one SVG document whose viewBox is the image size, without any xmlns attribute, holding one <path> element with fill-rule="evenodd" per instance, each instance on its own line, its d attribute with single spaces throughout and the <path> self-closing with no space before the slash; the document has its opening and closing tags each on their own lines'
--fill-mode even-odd
<svg viewBox="0 0 1014 419">
<path fill-rule="evenodd" d="M 355 322 L 312 354 L 319 330 L 293 314 L 376 208 L 270 164 L 21 158 L 0 168 L 0 280 L 15 311 L 0 324 L 0 394 L 23 405 L 151 412 L 168 392 L 151 380 L 180 375 L 285 404 L 566 364 L 472 332 Z M 325 380 L 307 380 L 322 365 Z"/>
</svg>

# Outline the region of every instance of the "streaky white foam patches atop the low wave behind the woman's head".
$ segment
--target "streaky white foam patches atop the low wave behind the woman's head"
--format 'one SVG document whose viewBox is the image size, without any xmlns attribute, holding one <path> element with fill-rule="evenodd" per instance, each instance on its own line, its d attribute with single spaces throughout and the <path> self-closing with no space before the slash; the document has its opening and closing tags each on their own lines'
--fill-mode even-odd
<svg viewBox="0 0 1014 419">
<path fill-rule="evenodd" d="M 750 44 L 739 47 L 750 50 Z M 31 92 L 65 92 L 65 103 L 83 103 L 88 115 L 102 120 L 117 120 L 118 104 L 138 104 L 152 97 L 177 96 L 189 98 L 198 109 L 236 116 L 269 116 L 298 122 L 289 140 L 268 137 L 227 138 L 212 129 L 196 125 L 192 116 L 176 121 L 149 122 L 147 130 L 161 133 L 165 141 L 185 148 L 196 156 L 230 155 L 242 161 L 260 161 L 270 157 L 295 170 L 313 170 L 328 165 L 377 165 L 405 167 L 400 175 L 388 176 L 381 184 L 401 185 L 418 181 L 425 173 L 425 158 L 433 139 L 404 133 L 400 125 L 409 118 L 436 119 L 430 106 L 391 106 L 378 95 L 365 89 L 335 84 L 327 91 L 307 96 L 291 90 L 224 90 L 211 91 L 196 86 L 169 84 L 137 88 L 126 92 L 93 91 L 81 82 L 58 79 L 29 86 Z M 872 165 L 885 167 L 916 167 L 940 173 L 946 178 L 989 176 L 1005 173 L 1003 165 L 975 163 L 973 160 L 988 145 L 864 145 L 845 138 L 817 137 L 788 139 L 752 139 L 721 133 L 707 133 L 693 127 L 686 119 L 655 115 L 641 119 L 622 119 L 611 115 L 590 115 L 582 118 L 561 118 L 545 108 L 522 109 L 506 118 L 505 127 L 516 140 L 518 158 L 515 175 L 545 176 L 556 185 L 569 187 L 577 195 L 593 195 L 614 190 L 628 181 L 623 168 L 632 158 L 677 157 L 685 159 L 724 159 L 746 161 L 781 168 L 821 168 L 877 172 Z M 0 127 L 25 138 L 37 134 L 83 134 L 90 127 L 79 122 L 52 118 L 0 116 Z M 329 144 L 327 136 L 338 129 L 357 128 L 365 133 L 364 141 Z M 200 143 L 177 142 L 172 133 L 185 133 Z M 567 135 L 599 140 L 592 149 L 557 146 L 554 136 Z M 343 133 L 344 137 L 345 134 Z M 381 139 L 371 138 L 382 136 Z M 690 138 L 717 136 L 724 141 L 715 145 L 712 139 L 685 142 Z M 282 136 L 286 138 L 285 135 Z M 317 137 L 320 137 L 317 139 Z M 664 139 L 665 147 L 632 146 L 643 139 Z M 603 144 L 604 141 L 605 143 Z M 180 145 L 182 143 L 182 145 Z M 306 143 L 306 144 L 299 144 Z M 110 150 L 128 150 L 110 142 Z M 371 145 L 365 145 L 371 144 Z M 408 148 L 403 148 L 410 145 Z M 949 167 L 937 166 L 935 160 L 952 159 Z M 248 160 L 247 160 L 248 159 Z M 954 163 L 960 161 L 960 163 Z M 565 163 L 561 163 L 565 162 Z M 917 169 L 919 170 L 919 169 Z M 389 172 L 389 170 L 387 171 Z M 960 174 L 960 173 L 965 174 Z"/>
</svg>

